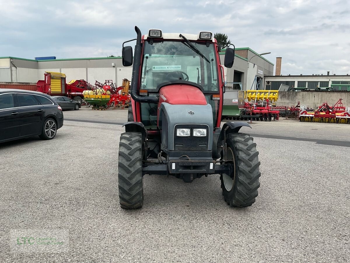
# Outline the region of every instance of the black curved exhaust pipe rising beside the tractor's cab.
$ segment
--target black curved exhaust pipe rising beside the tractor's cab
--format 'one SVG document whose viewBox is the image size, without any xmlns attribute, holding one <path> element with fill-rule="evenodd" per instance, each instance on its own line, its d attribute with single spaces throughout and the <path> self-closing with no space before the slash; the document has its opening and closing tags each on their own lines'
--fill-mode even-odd
<svg viewBox="0 0 350 263">
<path fill-rule="evenodd" d="M 146 103 L 158 103 L 159 97 L 141 97 L 137 94 L 137 89 L 140 79 L 140 64 L 141 64 L 141 31 L 135 26 L 135 31 L 137 33 L 135 52 L 134 52 L 134 64 L 132 67 L 132 79 L 131 79 L 131 88 L 130 96 L 134 101 L 137 102 L 146 102 Z"/>
</svg>

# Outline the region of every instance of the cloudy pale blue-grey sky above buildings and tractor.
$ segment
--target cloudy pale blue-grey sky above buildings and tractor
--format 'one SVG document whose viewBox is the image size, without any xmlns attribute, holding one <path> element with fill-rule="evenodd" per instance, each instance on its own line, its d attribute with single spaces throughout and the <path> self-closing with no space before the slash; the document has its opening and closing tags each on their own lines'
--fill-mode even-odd
<svg viewBox="0 0 350 263">
<path fill-rule="evenodd" d="M 233 0 L 0 0 L 0 56 L 89 58 L 121 55 L 149 28 L 220 32 L 250 47 L 281 74 L 350 74 L 350 2 Z M 133 44 L 134 45 L 134 44 Z"/>
</svg>

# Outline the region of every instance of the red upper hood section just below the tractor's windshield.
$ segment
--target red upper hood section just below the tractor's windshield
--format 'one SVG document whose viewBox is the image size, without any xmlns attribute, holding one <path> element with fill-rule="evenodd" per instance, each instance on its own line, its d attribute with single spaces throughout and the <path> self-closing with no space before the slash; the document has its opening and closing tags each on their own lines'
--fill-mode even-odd
<svg viewBox="0 0 350 263">
<path fill-rule="evenodd" d="M 207 100 L 202 91 L 197 87 L 186 84 L 172 84 L 162 87 L 159 92 L 159 104 L 162 102 L 172 105 L 207 105 Z"/>
</svg>

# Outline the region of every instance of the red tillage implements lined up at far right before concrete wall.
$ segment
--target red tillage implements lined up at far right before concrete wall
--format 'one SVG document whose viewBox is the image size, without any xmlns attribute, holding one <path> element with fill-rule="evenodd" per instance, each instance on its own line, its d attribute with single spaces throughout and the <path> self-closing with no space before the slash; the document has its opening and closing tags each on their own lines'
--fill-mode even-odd
<svg viewBox="0 0 350 263">
<path fill-rule="evenodd" d="M 350 124 L 350 107 L 345 107 L 341 98 L 332 106 L 326 101 L 316 110 L 307 108 L 301 109 L 299 120 Z"/>
</svg>

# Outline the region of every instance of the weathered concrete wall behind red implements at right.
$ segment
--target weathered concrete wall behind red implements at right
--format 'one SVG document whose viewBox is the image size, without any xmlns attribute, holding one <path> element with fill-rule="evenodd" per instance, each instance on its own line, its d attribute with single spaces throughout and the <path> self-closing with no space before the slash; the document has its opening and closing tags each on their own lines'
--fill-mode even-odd
<svg viewBox="0 0 350 263">
<path fill-rule="evenodd" d="M 277 106 L 295 106 L 298 101 L 302 106 L 316 109 L 323 102 L 335 104 L 339 98 L 343 99 L 345 107 L 350 107 L 350 92 L 279 92 Z"/>
</svg>

